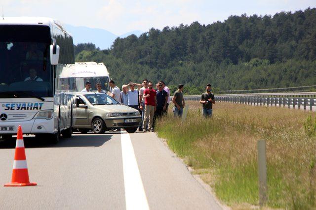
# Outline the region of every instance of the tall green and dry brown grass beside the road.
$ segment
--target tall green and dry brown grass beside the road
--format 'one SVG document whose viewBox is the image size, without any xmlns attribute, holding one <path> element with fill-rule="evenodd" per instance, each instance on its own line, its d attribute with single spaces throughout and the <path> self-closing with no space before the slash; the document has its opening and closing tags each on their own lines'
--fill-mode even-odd
<svg viewBox="0 0 316 210">
<path fill-rule="evenodd" d="M 279 107 L 216 103 L 213 117 L 189 101 L 185 123 L 169 116 L 158 136 L 201 174 L 226 204 L 258 204 L 257 140 L 267 141 L 268 206 L 316 208 L 315 113 Z M 308 120 L 310 118 L 310 120 Z M 315 123 L 315 124 L 313 124 Z M 308 126 L 307 126 L 308 125 Z"/>
</svg>

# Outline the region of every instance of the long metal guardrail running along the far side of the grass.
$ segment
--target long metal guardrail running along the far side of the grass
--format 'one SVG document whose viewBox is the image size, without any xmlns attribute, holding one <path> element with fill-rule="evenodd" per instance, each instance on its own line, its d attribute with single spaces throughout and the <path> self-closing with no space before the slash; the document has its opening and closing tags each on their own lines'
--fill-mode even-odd
<svg viewBox="0 0 316 210">
<path fill-rule="evenodd" d="M 200 95 L 183 96 L 185 100 L 199 101 Z M 253 106 L 276 106 L 316 112 L 316 92 L 280 92 L 215 95 L 219 102 Z"/>
</svg>

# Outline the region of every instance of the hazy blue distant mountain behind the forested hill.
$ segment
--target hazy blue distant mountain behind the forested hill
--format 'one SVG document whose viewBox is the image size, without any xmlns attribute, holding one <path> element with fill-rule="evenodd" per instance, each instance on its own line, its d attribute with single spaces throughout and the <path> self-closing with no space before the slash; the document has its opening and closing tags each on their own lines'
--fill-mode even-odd
<svg viewBox="0 0 316 210">
<path fill-rule="evenodd" d="M 100 49 L 108 49 L 113 44 L 118 35 L 104 29 L 92 29 L 84 26 L 72 26 L 66 24 L 66 29 L 74 38 L 74 44 L 92 42 L 96 47 Z M 125 38 L 131 34 L 139 36 L 143 32 L 140 30 L 134 30 L 131 32 L 120 35 L 120 38 Z"/>
</svg>

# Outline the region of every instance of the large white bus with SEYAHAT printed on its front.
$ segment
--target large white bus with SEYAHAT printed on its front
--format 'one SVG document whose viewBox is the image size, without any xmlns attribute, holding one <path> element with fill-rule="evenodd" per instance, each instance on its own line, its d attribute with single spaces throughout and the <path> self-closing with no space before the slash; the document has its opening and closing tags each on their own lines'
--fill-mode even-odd
<svg viewBox="0 0 316 210">
<path fill-rule="evenodd" d="M 24 134 L 57 143 L 71 137 L 76 120 L 72 71 L 72 36 L 50 18 L 5 17 L 0 20 L 0 135 Z"/>
</svg>

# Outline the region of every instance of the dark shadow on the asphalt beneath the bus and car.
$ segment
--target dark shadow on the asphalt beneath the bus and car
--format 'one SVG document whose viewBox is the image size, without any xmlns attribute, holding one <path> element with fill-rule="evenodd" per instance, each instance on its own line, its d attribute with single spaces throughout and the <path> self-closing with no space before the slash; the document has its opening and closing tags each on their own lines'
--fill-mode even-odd
<svg viewBox="0 0 316 210">
<path fill-rule="evenodd" d="M 79 133 L 78 133 L 79 134 Z M 74 133 L 71 138 L 61 138 L 56 145 L 49 144 L 45 139 L 23 137 L 25 148 L 67 148 L 67 147 L 100 147 L 112 139 L 109 134 L 79 134 Z M 0 149 L 14 149 L 16 139 L 0 140 Z"/>
</svg>

